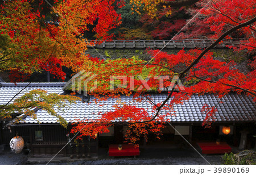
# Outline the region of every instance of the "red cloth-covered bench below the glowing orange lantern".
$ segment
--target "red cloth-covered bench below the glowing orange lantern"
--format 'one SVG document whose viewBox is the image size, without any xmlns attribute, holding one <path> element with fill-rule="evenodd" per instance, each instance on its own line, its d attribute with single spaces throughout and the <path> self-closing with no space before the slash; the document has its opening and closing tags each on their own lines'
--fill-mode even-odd
<svg viewBox="0 0 256 175">
<path fill-rule="evenodd" d="M 232 151 L 232 148 L 226 142 L 220 142 L 220 144 L 216 144 L 216 142 L 201 142 L 197 144 L 202 149 L 203 154 L 222 154 Z"/>
</svg>

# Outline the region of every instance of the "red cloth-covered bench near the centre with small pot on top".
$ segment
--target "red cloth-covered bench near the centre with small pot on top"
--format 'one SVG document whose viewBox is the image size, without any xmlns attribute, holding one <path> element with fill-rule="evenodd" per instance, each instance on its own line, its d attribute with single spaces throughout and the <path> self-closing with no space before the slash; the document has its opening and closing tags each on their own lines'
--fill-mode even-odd
<svg viewBox="0 0 256 175">
<path fill-rule="evenodd" d="M 139 147 L 131 144 L 122 144 L 122 150 L 118 150 L 118 144 L 109 145 L 109 156 L 138 156 Z"/>
</svg>

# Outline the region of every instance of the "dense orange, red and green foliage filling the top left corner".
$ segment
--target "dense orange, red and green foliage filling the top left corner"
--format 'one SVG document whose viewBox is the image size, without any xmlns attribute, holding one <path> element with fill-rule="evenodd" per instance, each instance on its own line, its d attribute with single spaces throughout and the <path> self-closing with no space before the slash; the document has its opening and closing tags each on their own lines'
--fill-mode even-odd
<svg viewBox="0 0 256 175">
<path fill-rule="evenodd" d="M 92 30 L 97 37 L 109 39 L 108 31 L 121 23 L 114 1 L 49 2 L 5 1 L 0 6 L 0 34 L 5 42 L 0 68 L 11 71 L 11 81 L 23 81 L 42 70 L 64 80 L 63 66 L 73 72 L 90 68 L 93 62 L 81 54 L 88 45 L 82 34 L 96 24 Z M 44 15 L 49 9 L 54 18 Z"/>
</svg>

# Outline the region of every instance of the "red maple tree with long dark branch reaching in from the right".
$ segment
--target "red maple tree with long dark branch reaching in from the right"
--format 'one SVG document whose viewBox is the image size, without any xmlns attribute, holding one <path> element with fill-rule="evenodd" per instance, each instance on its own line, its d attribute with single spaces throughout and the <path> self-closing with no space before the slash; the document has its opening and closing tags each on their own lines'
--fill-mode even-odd
<svg viewBox="0 0 256 175">
<path fill-rule="evenodd" d="M 214 11 L 214 5 L 217 4 L 224 6 L 222 9 L 225 10 L 226 15 L 222 13 L 216 15 L 216 11 Z M 151 116 L 147 114 L 147 116 L 150 116 L 150 118 L 143 118 L 144 115 L 140 114 L 140 108 L 133 108 L 132 111 L 129 110 L 127 117 L 133 116 L 134 113 L 141 115 L 141 118 L 138 120 L 127 120 L 128 118 L 121 120 L 121 122 L 126 122 L 128 126 L 131 126 L 130 128 L 133 128 L 133 124 L 149 124 L 150 122 L 158 124 L 159 121 L 166 121 L 165 116 L 160 115 L 160 112 L 162 110 L 170 111 L 174 103 L 183 103 L 184 100 L 188 99 L 193 93 L 197 93 L 199 95 L 205 93 L 213 93 L 221 99 L 221 97 L 223 97 L 225 94 L 234 91 L 236 93 L 245 93 L 247 95 L 251 95 L 254 97 L 255 101 L 255 64 L 251 64 L 251 69 L 249 72 L 242 72 L 237 68 L 236 62 L 232 60 L 216 60 L 213 57 L 213 53 L 209 52 L 210 49 L 220 43 L 222 39 L 232 38 L 234 32 L 235 35 L 239 37 L 245 36 L 246 38 L 241 40 L 240 44 L 237 44 L 236 47 L 232 47 L 233 49 L 235 49 L 237 52 L 243 49 L 246 49 L 247 52 L 251 52 L 255 49 L 253 46 L 255 42 L 249 44 L 250 41 L 255 39 L 254 28 L 256 17 L 255 8 L 253 8 L 254 5 L 244 5 L 239 1 L 234 2 L 232 5 L 240 9 L 240 12 L 228 12 L 229 2 L 226 1 L 217 1 L 217 3 L 213 1 L 213 4 L 207 6 L 207 8 L 203 10 L 200 9 L 202 15 L 209 16 L 203 20 L 204 25 L 210 28 L 210 30 L 206 31 L 211 31 L 211 33 L 207 35 L 210 36 L 210 38 L 215 39 L 214 43 L 203 51 L 201 49 L 191 49 L 187 52 L 181 50 L 177 54 L 170 55 L 166 52 L 158 50 L 149 50 L 147 51 L 147 53 L 151 55 L 151 60 L 149 62 L 136 59 L 111 60 L 109 61 L 109 65 L 111 66 L 102 66 L 102 69 L 98 68 L 101 74 L 98 76 L 98 78 L 95 78 L 94 81 L 100 81 L 101 86 L 100 88 L 96 88 L 92 94 L 105 94 L 108 95 L 108 97 L 118 97 L 120 93 L 134 93 L 134 100 L 138 101 L 141 99 L 136 97 L 139 97 L 139 95 L 147 92 L 148 89 L 146 86 L 144 86 L 145 84 L 143 84 L 142 81 L 140 81 L 138 78 L 134 78 L 133 76 L 142 75 L 145 80 L 147 75 L 151 75 L 146 82 L 147 85 L 151 87 L 151 89 L 155 90 L 159 89 L 159 80 L 153 78 L 153 76 L 169 76 L 170 78 L 164 81 L 165 87 L 169 87 L 171 85 L 167 99 L 165 99 L 161 104 L 155 104 L 154 101 L 151 101 L 149 97 L 144 95 L 143 97 L 146 98 L 149 103 L 154 105 L 154 114 Z M 247 15 L 244 17 L 241 16 L 243 13 Z M 230 16 L 232 16 L 232 18 L 241 19 L 239 22 L 232 22 L 232 20 L 230 20 Z M 247 44 L 245 44 L 245 42 L 247 42 Z M 121 84 L 123 85 L 123 82 L 119 81 L 117 88 L 115 88 L 114 91 L 111 91 L 109 90 L 108 84 L 110 75 L 129 76 L 133 78 L 127 79 L 126 83 L 128 86 L 125 86 L 125 88 L 118 86 Z M 177 76 L 177 78 L 173 81 L 172 78 L 174 76 Z M 174 92 L 178 80 L 194 83 L 185 86 L 185 91 Z M 134 83 L 134 90 L 129 90 L 129 85 L 131 83 Z M 170 103 L 168 100 L 171 98 L 174 99 L 172 99 Z M 113 120 L 117 120 L 119 116 L 126 114 L 123 111 L 126 109 L 126 106 L 123 107 L 117 107 L 115 111 L 102 114 L 102 119 L 105 119 L 104 122 L 106 121 L 105 117 L 108 117 L 107 120 L 109 122 L 113 122 Z M 203 122 L 205 127 L 210 127 L 210 124 L 214 122 L 214 113 L 216 110 L 216 107 L 208 106 L 207 104 L 205 104 L 203 109 L 201 109 L 202 113 L 205 113 L 207 116 Z M 101 123 L 101 120 L 97 122 Z M 87 132 L 84 128 L 84 124 L 85 123 L 79 123 L 79 126 L 73 128 L 73 131 Z M 139 137 L 138 133 L 147 134 L 148 132 L 139 126 L 137 126 L 137 128 L 137 138 Z M 128 132 L 128 134 L 130 133 Z M 130 143 L 135 143 L 135 140 L 130 140 Z"/>
</svg>

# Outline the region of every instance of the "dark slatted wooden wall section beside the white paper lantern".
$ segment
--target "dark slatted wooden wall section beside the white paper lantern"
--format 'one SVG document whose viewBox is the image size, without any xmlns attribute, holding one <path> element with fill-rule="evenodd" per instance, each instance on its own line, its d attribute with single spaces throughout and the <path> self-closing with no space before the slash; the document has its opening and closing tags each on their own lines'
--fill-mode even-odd
<svg viewBox="0 0 256 175">
<path fill-rule="evenodd" d="M 30 155 L 35 157 L 51 157 L 58 152 L 57 156 L 98 156 L 98 139 L 84 137 L 77 143 L 74 142 L 74 139 L 68 143 L 69 139 L 73 137 L 73 135 L 68 135 L 70 129 L 71 126 L 66 129 L 59 124 L 17 124 L 11 126 L 11 132 L 7 127 L 2 129 L 1 140 L 2 144 L 9 145 L 9 141 L 17 133 L 22 136 L 25 146 L 30 149 Z M 42 133 L 42 139 L 36 139 L 36 131 Z"/>
</svg>

